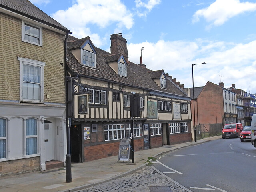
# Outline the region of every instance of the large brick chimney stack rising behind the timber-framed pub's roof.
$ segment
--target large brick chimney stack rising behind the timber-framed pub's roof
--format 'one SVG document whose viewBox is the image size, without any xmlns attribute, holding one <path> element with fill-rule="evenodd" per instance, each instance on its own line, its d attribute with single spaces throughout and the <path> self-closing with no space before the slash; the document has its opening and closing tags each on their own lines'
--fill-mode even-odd
<svg viewBox="0 0 256 192">
<path fill-rule="evenodd" d="M 128 50 L 127 50 L 127 41 L 125 38 L 122 37 L 122 33 L 113 34 L 110 37 L 111 40 L 111 47 L 110 52 L 112 54 L 122 53 L 128 62 Z"/>
</svg>

